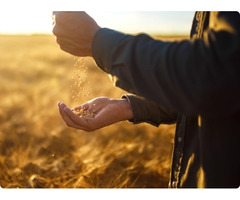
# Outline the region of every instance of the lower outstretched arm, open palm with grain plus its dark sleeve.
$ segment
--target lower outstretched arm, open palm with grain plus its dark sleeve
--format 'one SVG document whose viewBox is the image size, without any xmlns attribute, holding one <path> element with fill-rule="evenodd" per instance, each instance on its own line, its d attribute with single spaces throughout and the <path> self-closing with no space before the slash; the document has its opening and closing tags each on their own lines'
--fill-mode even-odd
<svg viewBox="0 0 240 200">
<path fill-rule="evenodd" d="M 148 122 L 158 126 L 161 123 L 171 124 L 176 121 L 176 113 L 161 109 L 157 104 L 141 97 L 124 95 L 122 99 L 98 97 L 87 103 L 68 108 L 58 103 L 59 112 L 69 127 L 84 131 L 94 131 L 111 124 L 129 120 L 133 123 Z M 79 111 L 90 113 L 79 116 Z"/>
</svg>

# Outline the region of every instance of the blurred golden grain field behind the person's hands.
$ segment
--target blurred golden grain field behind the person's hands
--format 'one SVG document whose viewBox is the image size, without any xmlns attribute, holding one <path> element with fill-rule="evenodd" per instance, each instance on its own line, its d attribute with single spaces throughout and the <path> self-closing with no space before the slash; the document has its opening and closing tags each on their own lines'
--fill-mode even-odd
<svg viewBox="0 0 240 200">
<path fill-rule="evenodd" d="M 76 106 L 126 93 L 87 58 L 75 101 L 75 62 L 51 35 L 0 35 L 0 186 L 167 187 L 175 125 L 121 122 L 91 133 L 65 125 L 58 101 Z"/>
</svg>

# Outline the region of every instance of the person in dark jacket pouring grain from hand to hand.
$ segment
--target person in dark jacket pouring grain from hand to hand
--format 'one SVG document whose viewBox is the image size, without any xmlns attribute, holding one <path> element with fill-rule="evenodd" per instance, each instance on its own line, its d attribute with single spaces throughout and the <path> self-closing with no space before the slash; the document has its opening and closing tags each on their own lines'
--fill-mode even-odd
<svg viewBox="0 0 240 200">
<path fill-rule="evenodd" d="M 177 123 L 169 186 L 237 188 L 240 183 L 240 16 L 196 12 L 190 39 L 155 40 L 100 27 L 85 12 L 54 12 L 60 48 L 92 56 L 119 99 L 95 98 L 80 118 L 59 103 L 68 126 L 93 131 L 122 120 Z"/>
</svg>

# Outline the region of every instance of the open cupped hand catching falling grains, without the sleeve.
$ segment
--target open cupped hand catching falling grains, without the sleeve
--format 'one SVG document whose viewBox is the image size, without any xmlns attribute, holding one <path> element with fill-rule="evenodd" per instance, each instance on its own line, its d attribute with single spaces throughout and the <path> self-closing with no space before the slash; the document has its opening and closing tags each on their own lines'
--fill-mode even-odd
<svg viewBox="0 0 240 200">
<path fill-rule="evenodd" d="M 58 107 L 68 126 L 87 132 L 133 118 L 131 105 L 127 99 L 98 97 L 72 109 L 61 102 L 58 103 Z M 80 117 L 76 114 L 77 111 L 80 111 Z M 88 116 L 84 116 L 83 112 Z"/>
</svg>

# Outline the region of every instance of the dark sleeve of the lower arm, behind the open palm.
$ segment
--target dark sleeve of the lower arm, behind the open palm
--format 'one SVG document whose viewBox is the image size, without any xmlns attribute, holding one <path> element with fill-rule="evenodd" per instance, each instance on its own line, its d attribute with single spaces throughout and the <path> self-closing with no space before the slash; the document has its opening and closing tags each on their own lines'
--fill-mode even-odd
<svg viewBox="0 0 240 200">
<path fill-rule="evenodd" d="M 142 122 L 149 123 L 154 126 L 160 124 L 173 124 L 177 121 L 177 113 L 160 107 L 155 102 L 149 101 L 143 97 L 136 95 L 123 95 L 122 98 L 127 99 L 133 111 L 133 124 Z"/>
</svg>

